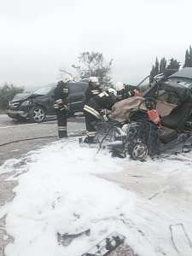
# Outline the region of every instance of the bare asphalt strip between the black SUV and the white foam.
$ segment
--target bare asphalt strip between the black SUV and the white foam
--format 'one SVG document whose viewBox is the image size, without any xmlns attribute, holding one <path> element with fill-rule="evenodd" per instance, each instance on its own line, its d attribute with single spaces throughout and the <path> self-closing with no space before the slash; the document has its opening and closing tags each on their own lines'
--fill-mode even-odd
<svg viewBox="0 0 192 256">
<path fill-rule="evenodd" d="M 85 132 L 84 117 L 68 119 L 68 135 Z M 17 121 L 0 115 L 0 166 L 5 160 L 20 158 L 32 149 L 58 140 L 56 119 L 50 117 L 44 123 Z"/>
</svg>

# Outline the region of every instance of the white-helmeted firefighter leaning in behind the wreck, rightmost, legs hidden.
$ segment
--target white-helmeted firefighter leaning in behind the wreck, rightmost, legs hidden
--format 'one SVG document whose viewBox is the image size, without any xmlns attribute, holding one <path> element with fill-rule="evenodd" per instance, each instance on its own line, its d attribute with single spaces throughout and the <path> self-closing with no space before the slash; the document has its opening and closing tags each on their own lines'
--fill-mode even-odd
<svg viewBox="0 0 192 256">
<path fill-rule="evenodd" d="M 113 86 L 115 90 L 117 90 L 117 101 L 125 100 L 132 96 L 140 96 L 139 90 L 137 86 L 123 84 L 118 82 Z"/>
</svg>

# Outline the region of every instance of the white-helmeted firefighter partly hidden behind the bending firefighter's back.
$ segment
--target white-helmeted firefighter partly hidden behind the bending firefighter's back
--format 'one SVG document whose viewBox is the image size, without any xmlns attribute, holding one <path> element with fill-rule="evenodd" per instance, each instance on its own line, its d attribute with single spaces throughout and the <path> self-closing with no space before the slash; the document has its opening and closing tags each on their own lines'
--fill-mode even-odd
<svg viewBox="0 0 192 256">
<path fill-rule="evenodd" d="M 96 77 L 90 77 L 89 86 L 85 90 L 85 102 L 88 102 L 90 98 L 96 96 L 102 92 L 102 88 L 99 85 L 99 80 Z"/>
</svg>

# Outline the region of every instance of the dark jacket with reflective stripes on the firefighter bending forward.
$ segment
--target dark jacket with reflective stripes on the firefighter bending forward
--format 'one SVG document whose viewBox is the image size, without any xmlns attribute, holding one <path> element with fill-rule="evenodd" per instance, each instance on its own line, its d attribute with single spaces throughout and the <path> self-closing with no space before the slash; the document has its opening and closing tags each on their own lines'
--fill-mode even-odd
<svg viewBox="0 0 192 256">
<path fill-rule="evenodd" d="M 84 105 L 84 111 L 91 113 L 97 119 L 100 118 L 100 112 L 102 109 L 107 108 L 111 110 L 116 100 L 103 91 L 97 96 L 90 98 L 90 100 Z"/>
</svg>

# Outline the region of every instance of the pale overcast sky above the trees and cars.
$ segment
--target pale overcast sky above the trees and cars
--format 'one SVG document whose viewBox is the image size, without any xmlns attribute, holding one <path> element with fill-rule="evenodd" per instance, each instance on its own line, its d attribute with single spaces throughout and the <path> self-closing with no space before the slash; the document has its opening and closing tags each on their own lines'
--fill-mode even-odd
<svg viewBox="0 0 192 256">
<path fill-rule="evenodd" d="M 0 0 L 0 85 L 55 82 L 79 53 L 113 58 L 113 82 L 137 84 L 156 56 L 183 65 L 191 0 Z"/>
</svg>

